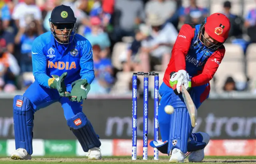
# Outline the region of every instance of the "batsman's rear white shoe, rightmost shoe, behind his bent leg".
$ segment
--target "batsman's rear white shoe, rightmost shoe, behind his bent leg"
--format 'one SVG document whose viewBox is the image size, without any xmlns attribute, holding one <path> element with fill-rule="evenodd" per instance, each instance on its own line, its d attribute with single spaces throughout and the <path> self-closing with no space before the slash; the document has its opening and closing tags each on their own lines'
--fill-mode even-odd
<svg viewBox="0 0 256 164">
<path fill-rule="evenodd" d="M 209 134 L 204 132 L 199 132 L 199 133 L 203 136 L 203 142 L 205 142 L 207 145 L 210 141 Z M 189 162 L 201 162 L 203 159 L 204 159 L 204 148 L 201 150 L 191 152 L 190 155 L 188 156 Z"/>
</svg>

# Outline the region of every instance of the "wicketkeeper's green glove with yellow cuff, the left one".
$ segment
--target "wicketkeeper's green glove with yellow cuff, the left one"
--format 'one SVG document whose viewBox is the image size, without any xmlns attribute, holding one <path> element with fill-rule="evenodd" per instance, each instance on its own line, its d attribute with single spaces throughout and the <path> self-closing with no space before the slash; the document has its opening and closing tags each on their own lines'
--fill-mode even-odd
<svg viewBox="0 0 256 164">
<path fill-rule="evenodd" d="M 49 87 L 57 89 L 61 97 L 69 97 L 69 93 L 67 92 L 66 85 L 64 83 L 64 79 L 67 75 L 68 73 L 64 72 L 60 77 L 58 75 L 52 75 L 52 78 L 48 79 Z"/>
</svg>

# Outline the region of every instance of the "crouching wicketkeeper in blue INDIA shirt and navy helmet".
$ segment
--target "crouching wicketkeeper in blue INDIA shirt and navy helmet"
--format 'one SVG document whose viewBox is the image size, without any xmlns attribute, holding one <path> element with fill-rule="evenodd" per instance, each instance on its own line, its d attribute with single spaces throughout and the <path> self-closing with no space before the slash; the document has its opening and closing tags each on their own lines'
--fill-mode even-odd
<svg viewBox="0 0 256 164">
<path fill-rule="evenodd" d="M 67 126 L 84 152 L 88 152 L 88 159 L 101 159 L 101 142 L 82 111 L 83 100 L 87 98 L 94 79 L 92 45 L 76 34 L 76 18 L 69 6 L 55 7 L 49 24 L 51 31 L 40 35 L 32 44 L 35 82 L 22 96 L 14 97 L 16 150 L 11 158 L 31 159 L 34 113 L 59 102 Z M 86 110 L 90 110 L 89 107 Z"/>
</svg>

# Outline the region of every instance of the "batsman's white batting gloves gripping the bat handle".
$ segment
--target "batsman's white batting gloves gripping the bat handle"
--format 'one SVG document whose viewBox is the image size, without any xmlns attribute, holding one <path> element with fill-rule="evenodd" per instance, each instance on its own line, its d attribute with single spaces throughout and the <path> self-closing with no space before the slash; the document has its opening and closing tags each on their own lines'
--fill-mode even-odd
<svg viewBox="0 0 256 164">
<path fill-rule="evenodd" d="M 181 86 L 187 89 L 191 88 L 191 79 L 185 70 L 179 70 L 178 72 L 172 72 L 170 74 L 170 86 L 174 90 L 176 95 L 181 93 Z"/>
</svg>

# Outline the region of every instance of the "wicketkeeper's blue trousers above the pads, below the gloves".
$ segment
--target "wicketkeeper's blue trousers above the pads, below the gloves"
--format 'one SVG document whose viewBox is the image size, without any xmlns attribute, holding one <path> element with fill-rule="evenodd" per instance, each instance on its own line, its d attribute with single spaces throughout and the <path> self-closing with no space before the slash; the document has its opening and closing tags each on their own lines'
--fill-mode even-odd
<svg viewBox="0 0 256 164">
<path fill-rule="evenodd" d="M 71 85 L 67 86 L 67 91 L 71 91 Z M 67 97 L 60 97 L 56 89 L 49 89 L 39 85 L 36 81 L 28 87 L 23 94 L 33 105 L 34 112 L 45 108 L 53 103 L 60 102 L 64 110 L 66 120 L 79 112 L 82 112 L 82 102 L 70 101 Z"/>
</svg>

